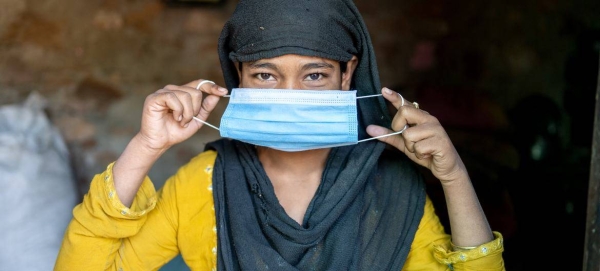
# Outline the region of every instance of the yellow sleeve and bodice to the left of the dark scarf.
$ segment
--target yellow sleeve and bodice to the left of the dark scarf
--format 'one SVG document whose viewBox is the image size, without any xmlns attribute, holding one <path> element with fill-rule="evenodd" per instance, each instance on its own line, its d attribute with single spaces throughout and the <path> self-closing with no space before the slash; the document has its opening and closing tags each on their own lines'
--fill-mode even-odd
<svg viewBox="0 0 600 271">
<path fill-rule="evenodd" d="M 158 270 L 178 253 L 192 270 L 215 267 L 215 157 L 198 155 L 158 193 L 146 177 L 131 208 L 114 191 L 110 164 L 74 208 L 54 270 Z"/>
</svg>

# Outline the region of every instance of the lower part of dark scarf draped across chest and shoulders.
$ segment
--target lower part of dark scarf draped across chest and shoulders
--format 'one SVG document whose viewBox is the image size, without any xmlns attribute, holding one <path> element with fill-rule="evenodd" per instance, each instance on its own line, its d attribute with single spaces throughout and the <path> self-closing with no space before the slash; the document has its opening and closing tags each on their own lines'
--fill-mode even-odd
<svg viewBox="0 0 600 271">
<path fill-rule="evenodd" d="M 378 142 L 333 148 L 302 225 L 279 204 L 255 148 L 220 139 L 213 196 L 218 270 L 401 270 L 423 216 L 414 164 Z"/>
</svg>

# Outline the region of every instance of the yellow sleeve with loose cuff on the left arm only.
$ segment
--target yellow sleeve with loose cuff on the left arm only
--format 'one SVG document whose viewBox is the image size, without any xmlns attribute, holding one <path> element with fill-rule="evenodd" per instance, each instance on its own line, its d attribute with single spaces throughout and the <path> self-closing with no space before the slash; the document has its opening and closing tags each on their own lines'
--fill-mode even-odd
<svg viewBox="0 0 600 271">
<path fill-rule="evenodd" d="M 94 176 L 83 201 L 73 209 L 54 270 L 117 270 L 122 239 L 138 233 L 156 206 L 156 192 L 145 178 L 131 208 L 115 192 L 111 163 Z"/>
</svg>

